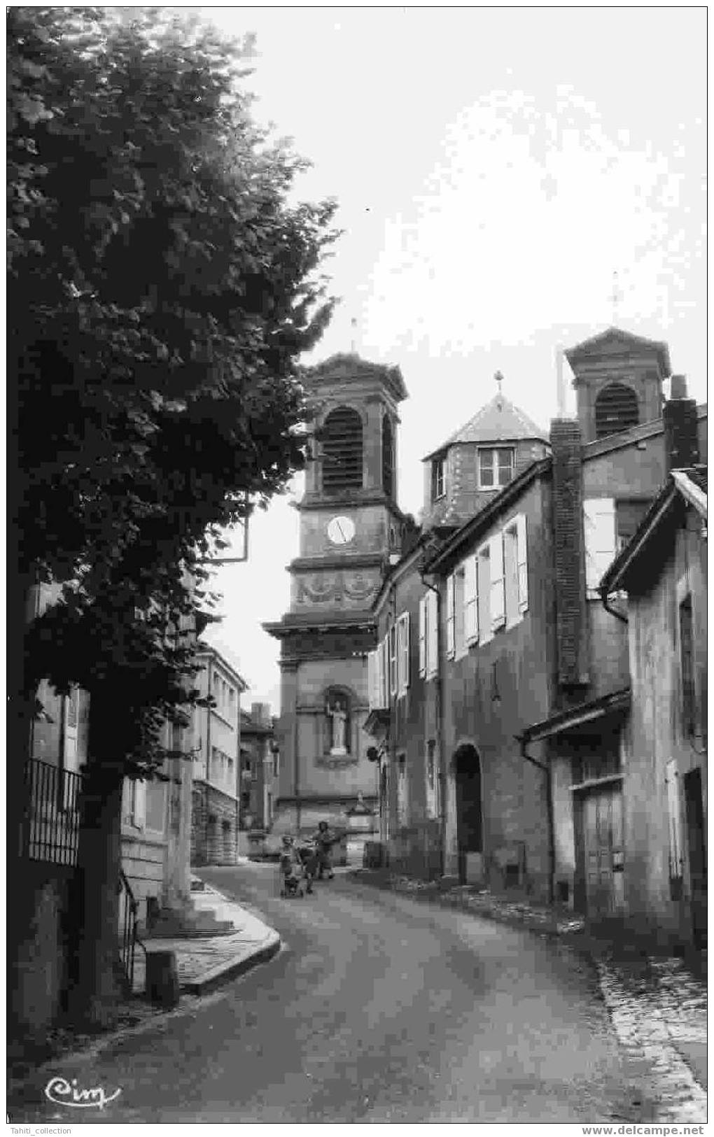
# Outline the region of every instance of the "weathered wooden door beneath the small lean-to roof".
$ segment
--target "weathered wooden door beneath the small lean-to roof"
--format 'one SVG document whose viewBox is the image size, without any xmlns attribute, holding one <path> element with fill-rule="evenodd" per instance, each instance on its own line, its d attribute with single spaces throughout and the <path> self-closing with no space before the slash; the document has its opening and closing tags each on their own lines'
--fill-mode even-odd
<svg viewBox="0 0 714 1137">
<path fill-rule="evenodd" d="M 620 785 L 593 790 L 583 800 L 586 890 L 589 916 L 613 916 L 624 906 L 624 850 Z"/>
</svg>

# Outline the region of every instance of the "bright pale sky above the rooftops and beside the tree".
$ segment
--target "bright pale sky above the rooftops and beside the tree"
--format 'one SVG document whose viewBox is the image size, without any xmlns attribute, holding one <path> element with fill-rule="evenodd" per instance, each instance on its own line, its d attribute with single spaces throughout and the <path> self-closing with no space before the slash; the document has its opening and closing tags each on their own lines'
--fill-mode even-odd
<svg viewBox="0 0 714 1137">
<path fill-rule="evenodd" d="M 254 116 L 312 161 L 298 196 L 339 202 L 323 267 L 340 305 L 302 362 L 354 342 L 401 368 L 404 511 L 496 371 L 547 429 L 557 347 L 613 323 L 666 340 L 706 400 L 706 9 L 200 11 L 255 33 Z M 261 623 L 288 609 L 300 493 L 298 478 L 251 518 L 248 561 L 216 573 L 209 638 L 240 662 L 243 705 L 274 713 L 279 644 Z"/>
</svg>

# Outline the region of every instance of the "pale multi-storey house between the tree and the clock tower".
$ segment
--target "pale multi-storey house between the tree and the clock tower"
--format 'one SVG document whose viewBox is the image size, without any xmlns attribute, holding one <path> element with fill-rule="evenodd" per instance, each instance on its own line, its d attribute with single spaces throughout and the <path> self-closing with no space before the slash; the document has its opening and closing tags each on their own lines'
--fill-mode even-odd
<svg viewBox="0 0 714 1137">
<path fill-rule="evenodd" d="M 240 821 L 240 697 L 247 684 L 225 653 L 207 647 L 196 686 L 210 706 L 192 712 L 191 864 L 235 864 Z"/>
</svg>

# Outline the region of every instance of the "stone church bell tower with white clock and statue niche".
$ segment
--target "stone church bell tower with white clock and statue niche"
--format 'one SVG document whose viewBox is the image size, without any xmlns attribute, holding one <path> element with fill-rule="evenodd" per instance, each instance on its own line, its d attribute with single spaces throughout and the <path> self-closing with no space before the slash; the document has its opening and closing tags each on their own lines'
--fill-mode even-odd
<svg viewBox="0 0 714 1137">
<path fill-rule="evenodd" d="M 290 563 L 290 611 L 265 624 L 281 641 L 281 762 L 275 830 L 322 819 L 362 829 L 376 807 L 367 760 L 372 603 L 401 550 L 397 506 L 398 367 L 337 355 L 304 379 L 313 455 Z M 376 820 L 375 820 L 376 828 Z"/>
</svg>

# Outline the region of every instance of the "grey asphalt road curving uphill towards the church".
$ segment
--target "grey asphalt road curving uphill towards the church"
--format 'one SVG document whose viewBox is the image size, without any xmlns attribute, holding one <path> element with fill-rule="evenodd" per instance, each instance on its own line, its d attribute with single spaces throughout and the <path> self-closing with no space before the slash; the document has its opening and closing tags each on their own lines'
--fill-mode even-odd
<svg viewBox="0 0 714 1137">
<path fill-rule="evenodd" d="M 530 932 L 347 877 L 277 897 L 209 869 L 284 948 L 57 1073 L 117 1099 L 72 1121 L 598 1122 L 647 1117 L 590 965 Z M 59 1120 L 42 1104 L 13 1120 Z M 63 1114 L 67 1120 L 67 1111 Z"/>
</svg>

